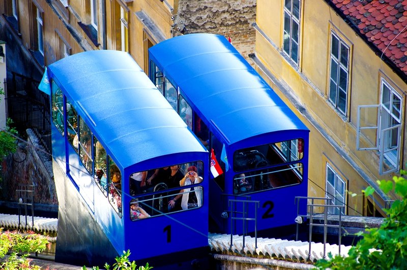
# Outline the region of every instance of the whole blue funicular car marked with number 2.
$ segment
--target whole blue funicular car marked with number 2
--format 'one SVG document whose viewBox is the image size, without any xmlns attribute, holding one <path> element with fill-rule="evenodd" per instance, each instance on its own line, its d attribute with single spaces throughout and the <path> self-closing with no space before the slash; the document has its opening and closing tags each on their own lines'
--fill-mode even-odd
<svg viewBox="0 0 407 270">
<path fill-rule="evenodd" d="M 295 233 L 309 129 L 223 36 L 178 36 L 149 56 L 150 78 L 221 168 L 210 174 L 210 231 Z"/>
</svg>

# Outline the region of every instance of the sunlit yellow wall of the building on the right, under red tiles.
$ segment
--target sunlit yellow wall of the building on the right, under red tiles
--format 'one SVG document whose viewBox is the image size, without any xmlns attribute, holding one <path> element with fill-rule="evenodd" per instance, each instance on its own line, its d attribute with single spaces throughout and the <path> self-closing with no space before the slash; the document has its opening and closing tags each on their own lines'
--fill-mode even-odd
<svg viewBox="0 0 407 270">
<path fill-rule="evenodd" d="M 325 197 L 326 163 L 329 161 L 329 164 L 334 166 L 333 169 L 347 181 L 347 190 L 359 194 L 356 197 L 348 196 L 348 213 L 362 213 L 363 200 L 360 194 L 368 185 L 362 175 L 376 180 L 391 179 L 395 174 L 379 175 L 379 157 L 376 152 L 356 150 L 358 105 L 380 102 L 380 76 L 387 76 L 387 81 L 393 82 L 392 86 L 396 91 L 406 89 L 406 85 L 324 1 L 307 1 L 306 5 L 302 4 L 301 9 L 299 67 L 290 64 L 281 51 L 283 1 L 272 3 L 267 0 L 257 1 L 256 23 L 272 42 L 257 32 L 256 57 L 276 77 L 277 82 L 271 82 L 265 73 L 263 76 L 311 130 L 308 196 Z M 331 31 L 350 46 L 346 116 L 336 111 L 327 96 Z M 260 71 L 259 68 L 257 70 Z M 297 111 L 282 94 L 282 87 L 293 92 L 319 126 L 313 126 Z M 401 90 L 399 94 L 402 96 Z M 405 98 L 403 108 L 405 110 Z M 403 113 L 402 123 L 404 122 Z M 332 147 L 319 132 L 321 129 L 351 157 L 351 160 L 345 159 Z M 357 171 L 358 169 L 362 171 Z"/>
</svg>

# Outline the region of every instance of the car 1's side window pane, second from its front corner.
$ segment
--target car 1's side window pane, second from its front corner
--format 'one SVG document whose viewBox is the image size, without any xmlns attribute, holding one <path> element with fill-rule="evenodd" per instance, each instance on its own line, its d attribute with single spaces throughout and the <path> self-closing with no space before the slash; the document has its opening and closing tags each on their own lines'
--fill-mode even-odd
<svg viewBox="0 0 407 270">
<path fill-rule="evenodd" d="M 107 196 L 107 174 L 106 174 L 106 164 L 107 156 L 106 150 L 100 144 L 99 140 L 94 136 L 94 153 L 95 153 L 95 182 L 98 184 L 100 190 L 105 196 Z"/>
</svg>

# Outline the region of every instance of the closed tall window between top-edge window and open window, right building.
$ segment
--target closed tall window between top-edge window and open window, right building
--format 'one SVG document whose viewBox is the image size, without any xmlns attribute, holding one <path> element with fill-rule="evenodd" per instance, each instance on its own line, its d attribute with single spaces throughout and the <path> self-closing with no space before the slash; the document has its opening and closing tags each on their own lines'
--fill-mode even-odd
<svg viewBox="0 0 407 270">
<path fill-rule="evenodd" d="M 349 80 L 349 46 L 331 34 L 329 101 L 346 115 Z"/>
</svg>

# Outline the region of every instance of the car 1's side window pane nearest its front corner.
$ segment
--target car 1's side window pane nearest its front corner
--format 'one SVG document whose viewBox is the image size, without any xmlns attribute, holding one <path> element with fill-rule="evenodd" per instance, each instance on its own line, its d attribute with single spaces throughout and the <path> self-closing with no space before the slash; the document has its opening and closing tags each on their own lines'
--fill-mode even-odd
<svg viewBox="0 0 407 270">
<path fill-rule="evenodd" d="M 109 161 L 109 202 L 113 209 L 118 212 L 120 217 L 122 217 L 122 173 L 120 172 L 114 161 L 108 157 Z"/>
</svg>

